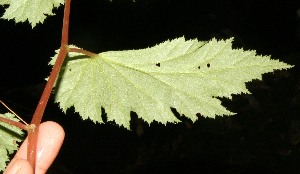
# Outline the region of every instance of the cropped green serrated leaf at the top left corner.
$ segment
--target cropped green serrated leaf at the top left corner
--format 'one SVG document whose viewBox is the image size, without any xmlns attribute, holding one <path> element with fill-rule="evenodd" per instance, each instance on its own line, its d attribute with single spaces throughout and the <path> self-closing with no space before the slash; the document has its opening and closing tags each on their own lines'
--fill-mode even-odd
<svg viewBox="0 0 300 174">
<path fill-rule="evenodd" d="M 0 5 L 9 5 L 2 18 L 18 22 L 29 21 L 32 28 L 43 23 L 54 7 L 64 4 L 64 0 L 0 0 Z"/>
</svg>

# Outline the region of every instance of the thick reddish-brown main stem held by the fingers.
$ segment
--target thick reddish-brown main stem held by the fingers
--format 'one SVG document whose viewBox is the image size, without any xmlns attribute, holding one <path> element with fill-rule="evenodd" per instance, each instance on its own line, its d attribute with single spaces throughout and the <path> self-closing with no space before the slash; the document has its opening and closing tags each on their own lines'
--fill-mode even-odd
<svg viewBox="0 0 300 174">
<path fill-rule="evenodd" d="M 41 123 L 46 105 L 48 103 L 53 85 L 55 80 L 59 74 L 60 68 L 63 64 L 63 61 L 67 55 L 68 49 L 68 40 L 69 40 L 69 16 L 70 16 L 70 4 L 71 0 L 65 1 L 65 9 L 64 9 L 64 19 L 63 19 L 63 27 L 62 27 L 62 38 L 61 38 L 61 46 L 60 51 L 58 53 L 57 60 L 53 66 L 53 69 L 50 73 L 48 82 L 45 86 L 45 89 L 42 93 L 41 99 L 37 105 L 37 108 L 33 114 L 33 118 L 31 120 L 31 125 L 33 125 L 33 129 L 28 130 L 28 148 L 27 148 L 27 160 L 30 162 L 31 166 L 35 171 L 36 167 L 36 151 L 37 151 L 37 141 L 38 141 L 38 132 L 39 125 Z"/>
</svg>

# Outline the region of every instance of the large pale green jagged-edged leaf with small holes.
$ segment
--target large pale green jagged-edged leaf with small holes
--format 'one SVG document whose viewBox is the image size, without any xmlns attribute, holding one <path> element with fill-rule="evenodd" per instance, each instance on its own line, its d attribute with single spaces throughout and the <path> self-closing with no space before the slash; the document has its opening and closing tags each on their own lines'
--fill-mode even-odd
<svg viewBox="0 0 300 174">
<path fill-rule="evenodd" d="M 164 124 L 179 121 L 170 107 L 192 121 L 197 113 L 232 115 L 217 97 L 250 93 L 245 82 L 292 67 L 257 56 L 255 51 L 232 49 L 232 41 L 182 37 L 146 49 L 103 52 L 94 58 L 69 53 L 55 100 L 63 111 L 74 106 L 83 119 L 100 123 L 104 107 L 108 121 L 126 128 L 130 111 L 148 123 Z"/>
</svg>

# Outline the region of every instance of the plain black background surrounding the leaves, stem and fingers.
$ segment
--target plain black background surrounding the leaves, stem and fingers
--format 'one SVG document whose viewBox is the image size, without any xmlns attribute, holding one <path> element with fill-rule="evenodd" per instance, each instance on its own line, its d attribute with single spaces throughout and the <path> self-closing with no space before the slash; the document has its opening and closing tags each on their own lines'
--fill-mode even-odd
<svg viewBox="0 0 300 174">
<path fill-rule="evenodd" d="M 137 49 L 185 36 L 235 37 L 234 47 L 296 65 L 247 86 L 252 95 L 222 99 L 232 117 L 150 126 L 132 116 L 132 131 L 81 121 L 50 100 L 44 121 L 66 139 L 48 173 L 299 173 L 299 0 L 72 0 L 70 43 L 93 52 Z M 47 65 L 60 45 L 63 8 L 44 25 L 0 21 L 0 98 L 28 122 Z M 0 9 L 3 13 L 4 9 Z M 1 107 L 1 112 L 5 109 Z"/>
</svg>

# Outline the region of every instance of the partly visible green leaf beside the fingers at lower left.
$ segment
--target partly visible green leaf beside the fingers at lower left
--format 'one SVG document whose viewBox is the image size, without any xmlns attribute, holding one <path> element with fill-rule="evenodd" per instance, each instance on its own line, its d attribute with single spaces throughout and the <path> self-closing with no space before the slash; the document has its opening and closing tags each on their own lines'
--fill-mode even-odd
<svg viewBox="0 0 300 174">
<path fill-rule="evenodd" d="M 0 114 L 1 117 L 19 121 L 11 113 Z M 4 171 L 6 162 L 9 161 L 9 154 L 18 150 L 17 142 L 22 141 L 23 132 L 21 129 L 9 124 L 0 122 L 0 172 Z"/>
</svg>

